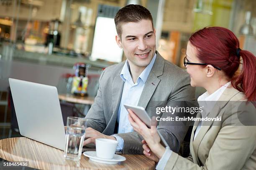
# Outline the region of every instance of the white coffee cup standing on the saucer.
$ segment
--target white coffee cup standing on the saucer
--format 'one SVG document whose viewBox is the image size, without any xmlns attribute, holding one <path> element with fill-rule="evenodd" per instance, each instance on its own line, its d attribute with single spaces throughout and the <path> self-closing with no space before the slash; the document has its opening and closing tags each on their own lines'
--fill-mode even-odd
<svg viewBox="0 0 256 170">
<path fill-rule="evenodd" d="M 113 159 L 118 141 L 98 138 L 95 140 L 96 155 L 98 158 Z"/>
</svg>

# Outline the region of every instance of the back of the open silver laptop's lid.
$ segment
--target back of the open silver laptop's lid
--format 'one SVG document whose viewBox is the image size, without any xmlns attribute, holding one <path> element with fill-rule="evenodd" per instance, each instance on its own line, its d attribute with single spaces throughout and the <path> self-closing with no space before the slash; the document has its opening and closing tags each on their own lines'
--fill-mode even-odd
<svg viewBox="0 0 256 170">
<path fill-rule="evenodd" d="M 57 88 L 9 78 L 20 135 L 64 150 L 65 129 Z"/>
</svg>

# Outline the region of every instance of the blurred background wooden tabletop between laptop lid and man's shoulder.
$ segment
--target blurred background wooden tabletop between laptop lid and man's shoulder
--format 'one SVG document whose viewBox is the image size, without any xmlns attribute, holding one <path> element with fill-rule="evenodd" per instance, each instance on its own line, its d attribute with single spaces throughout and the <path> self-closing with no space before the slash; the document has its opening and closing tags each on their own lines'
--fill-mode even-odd
<svg viewBox="0 0 256 170">
<path fill-rule="evenodd" d="M 65 100 L 67 102 L 79 103 L 84 105 L 92 105 L 94 97 L 82 97 L 69 94 L 59 94 L 59 100 Z"/>
</svg>

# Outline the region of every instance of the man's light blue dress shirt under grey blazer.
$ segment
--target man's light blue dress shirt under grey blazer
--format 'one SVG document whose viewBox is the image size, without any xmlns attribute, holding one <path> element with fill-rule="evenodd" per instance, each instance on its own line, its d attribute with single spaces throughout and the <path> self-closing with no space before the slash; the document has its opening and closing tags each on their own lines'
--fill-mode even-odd
<svg viewBox="0 0 256 170">
<path fill-rule="evenodd" d="M 131 126 L 129 120 L 128 120 L 128 112 L 123 106 L 123 104 L 129 104 L 129 105 L 138 105 L 138 101 L 141 97 L 141 92 L 144 88 L 145 82 L 148 78 L 148 75 L 154 65 L 154 62 L 156 60 L 156 54 L 152 58 L 151 62 L 147 65 L 147 67 L 141 72 L 141 75 L 139 75 L 136 83 L 133 83 L 131 74 L 130 74 L 130 66 L 128 61 L 125 61 L 125 65 L 123 66 L 123 69 L 120 73 L 120 77 L 124 81 L 123 86 L 123 93 L 119 105 L 118 110 L 118 133 L 128 133 L 133 132 L 133 127 Z M 118 135 L 113 135 L 117 141 L 118 141 L 118 147 L 117 150 L 123 149 L 123 138 L 121 138 Z"/>
</svg>

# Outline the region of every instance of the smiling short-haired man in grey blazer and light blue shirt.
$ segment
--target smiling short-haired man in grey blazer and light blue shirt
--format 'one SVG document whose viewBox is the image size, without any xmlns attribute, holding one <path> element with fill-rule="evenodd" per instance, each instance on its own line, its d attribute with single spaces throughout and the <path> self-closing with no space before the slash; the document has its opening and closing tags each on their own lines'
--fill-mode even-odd
<svg viewBox="0 0 256 170">
<path fill-rule="evenodd" d="M 156 51 L 153 19 L 145 7 L 123 7 L 115 16 L 115 26 L 116 42 L 127 60 L 102 72 L 95 102 L 86 115 L 90 128 L 86 129 L 84 145 L 108 138 L 118 141 L 123 154 L 142 154 L 142 138 L 133 132 L 123 104 L 142 106 L 152 116 L 152 108 L 160 101 L 171 105 L 172 101 L 194 100 L 195 90 L 187 73 Z M 178 152 L 188 127 L 168 123 L 160 121 L 158 129 L 170 148 Z"/>
</svg>

